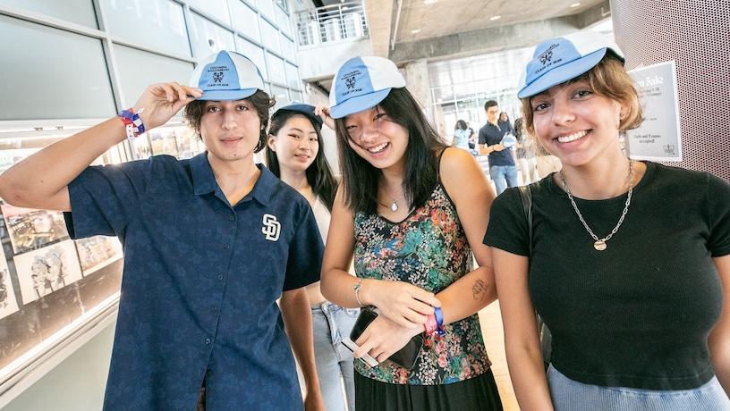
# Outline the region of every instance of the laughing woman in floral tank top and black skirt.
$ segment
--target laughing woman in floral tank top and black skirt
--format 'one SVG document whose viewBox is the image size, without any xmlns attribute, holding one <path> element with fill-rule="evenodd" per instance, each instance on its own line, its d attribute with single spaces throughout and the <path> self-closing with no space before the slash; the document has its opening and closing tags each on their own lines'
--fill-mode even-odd
<svg viewBox="0 0 730 411">
<path fill-rule="evenodd" d="M 353 58 L 332 90 L 343 182 L 322 292 L 379 312 L 355 341 L 356 357 L 379 362 L 355 363 L 356 409 L 502 409 L 476 315 L 497 297 L 480 241 L 494 198 L 484 174 L 445 146 L 393 62 Z M 417 335 L 411 365 L 388 359 Z"/>
</svg>

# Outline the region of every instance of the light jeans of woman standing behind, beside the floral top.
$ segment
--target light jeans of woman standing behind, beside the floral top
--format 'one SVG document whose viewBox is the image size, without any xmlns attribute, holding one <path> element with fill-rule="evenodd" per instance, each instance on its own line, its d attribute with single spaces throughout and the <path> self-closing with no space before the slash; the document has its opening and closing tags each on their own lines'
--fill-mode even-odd
<svg viewBox="0 0 730 411">
<path fill-rule="evenodd" d="M 350 335 L 359 314 L 359 308 L 343 308 L 329 301 L 312 306 L 314 357 L 327 411 L 344 411 L 345 404 L 350 411 L 355 410 L 352 351 L 344 347 L 342 340 Z"/>
</svg>

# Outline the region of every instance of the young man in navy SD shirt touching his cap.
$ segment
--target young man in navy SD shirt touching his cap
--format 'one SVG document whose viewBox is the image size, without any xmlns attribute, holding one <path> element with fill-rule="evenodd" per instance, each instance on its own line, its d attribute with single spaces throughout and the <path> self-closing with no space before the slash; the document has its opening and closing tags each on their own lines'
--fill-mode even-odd
<svg viewBox="0 0 730 411">
<path fill-rule="evenodd" d="M 253 154 L 272 102 L 249 59 L 208 57 L 192 87 L 147 88 L 132 109 L 65 138 L 0 176 L 16 206 L 64 210 L 74 238 L 116 235 L 124 274 L 105 409 L 324 409 L 303 287 L 322 241 L 310 206 Z M 208 149 L 89 164 L 108 148 L 184 116 Z M 276 299 L 281 297 L 281 312 Z"/>
</svg>

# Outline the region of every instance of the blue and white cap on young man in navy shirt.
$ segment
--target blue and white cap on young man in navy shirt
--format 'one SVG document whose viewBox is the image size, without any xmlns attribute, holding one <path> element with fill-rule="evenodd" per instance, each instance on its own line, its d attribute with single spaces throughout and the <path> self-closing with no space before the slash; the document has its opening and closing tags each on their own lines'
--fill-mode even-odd
<svg viewBox="0 0 730 411">
<path fill-rule="evenodd" d="M 203 90 L 198 100 L 242 100 L 264 89 L 264 79 L 256 64 L 245 55 L 219 51 L 208 55 L 192 71 L 191 87 Z"/>
</svg>

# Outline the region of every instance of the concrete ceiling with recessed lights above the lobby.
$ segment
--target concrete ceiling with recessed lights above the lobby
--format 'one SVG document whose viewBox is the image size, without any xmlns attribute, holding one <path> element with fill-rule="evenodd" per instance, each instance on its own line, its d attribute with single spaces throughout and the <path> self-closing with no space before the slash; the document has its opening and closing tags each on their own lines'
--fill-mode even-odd
<svg viewBox="0 0 730 411">
<path fill-rule="evenodd" d="M 539 39 L 584 29 L 610 15 L 608 0 L 432 2 L 365 0 L 374 53 L 396 63 L 477 55 L 532 46 Z M 492 20 L 495 16 L 500 17 Z"/>
</svg>

